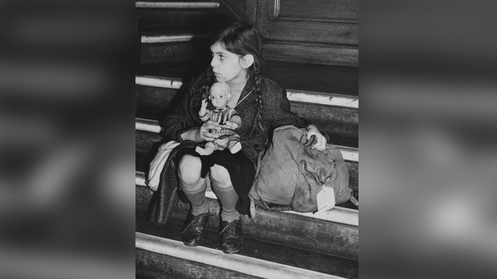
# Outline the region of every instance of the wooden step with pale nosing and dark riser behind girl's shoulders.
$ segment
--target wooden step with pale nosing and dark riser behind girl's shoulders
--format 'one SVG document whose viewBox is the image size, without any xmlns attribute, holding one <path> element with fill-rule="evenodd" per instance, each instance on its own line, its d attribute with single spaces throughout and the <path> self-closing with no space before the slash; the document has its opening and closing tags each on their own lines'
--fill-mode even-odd
<svg viewBox="0 0 497 279">
<path fill-rule="evenodd" d="M 162 120 L 177 104 L 180 79 L 136 76 L 136 116 Z M 323 128 L 338 145 L 358 145 L 358 97 L 287 89 L 291 110 Z"/>
</svg>

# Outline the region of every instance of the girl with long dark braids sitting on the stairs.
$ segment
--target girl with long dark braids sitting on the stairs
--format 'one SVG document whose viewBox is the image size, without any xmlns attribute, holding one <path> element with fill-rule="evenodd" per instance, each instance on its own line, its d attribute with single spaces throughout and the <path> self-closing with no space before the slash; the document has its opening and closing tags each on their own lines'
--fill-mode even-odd
<svg viewBox="0 0 497 279">
<path fill-rule="evenodd" d="M 254 26 L 241 22 L 229 25 L 214 37 L 210 50 L 211 67 L 192 81 L 183 102 L 165 118 L 164 136 L 199 144 L 218 138 L 215 131 L 222 127 L 211 120 L 203 123 L 199 110 L 203 96 L 214 82 L 230 86 L 232 98 L 228 106 L 236 109 L 243 122 L 237 131 L 241 151 L 232 154 L 229 150 L 216 150 L 201 156 L 195 149 L 184 148 L 177 153 L 175 162 L 179 188 L 191 204 L 182 231 L 183 242 L 197 246 L 204 240 L 209 218 L 205 198 L 209 179 L 222 207 L 221 249 L 232 254 L 242 248 L 240 213 L 249 211 L 248 192 L 254 181 L 257 154 L 266 147 L 268 133 L 282 125 L 306 128 L 308 137 L 317 137 L 314 147 L 318 149 L 325 148 L 328 138 L 322 130 L 290 111 L 285 89 L 260 75 L 261 38 Z"/>
</svg>

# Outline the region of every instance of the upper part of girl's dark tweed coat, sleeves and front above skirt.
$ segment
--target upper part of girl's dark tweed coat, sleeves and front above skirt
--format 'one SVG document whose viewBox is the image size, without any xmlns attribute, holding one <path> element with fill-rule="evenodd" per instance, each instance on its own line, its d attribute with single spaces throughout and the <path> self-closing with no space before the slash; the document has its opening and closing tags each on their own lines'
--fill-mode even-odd
<svg viewBox="0 0 497 279">
<path fill-rule="evenodd" d="M 199 110 L 202 96 L 204 95 L 202 85 L 207 82 L 207 75 L 206 72 L 204 72 L 190 83 L 186 96 L 184 96 L 180 105 L 176 107 L 173 114 L 164 119 L 164 131 L 162 135 L 165 139 L 183 142 L 180 137 L 181 134 L 202 126 L 202 120 L 199 118 Z M 249 78 L 238 101 L 247 96 L 247 94 L 254 89 L 255 85 L 255 79 Z M 241 138 L 242 151 L 254 163 L 254 166 L 257 165 L 257 153 L 265 149 L 268 139 L 270 139 L 268 134 L 270 134 L 274 128 L 283 125 L 307 128 L 311 125 L 311 122 L 290 111 L 287 92 L 280 85 L 270 79 L 262 78 L 259 86 L 262 94 L 262 124 L 264 130 L 261 131 L 257 123 L 256 90 L 253 90 L 251 94 L 235 108 L 242 119 L 241 127 L 237 130 Z M 317 128 L 329 141 L 326 132 L 319 127 Z"/>
</svg>

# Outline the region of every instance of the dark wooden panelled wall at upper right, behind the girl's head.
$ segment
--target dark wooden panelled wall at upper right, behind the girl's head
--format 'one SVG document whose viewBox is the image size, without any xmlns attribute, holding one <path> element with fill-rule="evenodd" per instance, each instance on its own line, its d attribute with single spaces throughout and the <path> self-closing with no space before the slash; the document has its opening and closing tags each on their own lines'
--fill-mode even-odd
<svg viewBox="0 0 497 279">
<path fill-rule="evenodd" d="M 358 0 L 246 0 L 245 7 L 267 59 L 358 67 Z"/>
</svg>

